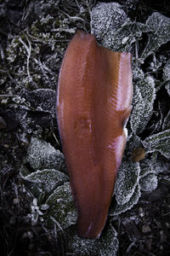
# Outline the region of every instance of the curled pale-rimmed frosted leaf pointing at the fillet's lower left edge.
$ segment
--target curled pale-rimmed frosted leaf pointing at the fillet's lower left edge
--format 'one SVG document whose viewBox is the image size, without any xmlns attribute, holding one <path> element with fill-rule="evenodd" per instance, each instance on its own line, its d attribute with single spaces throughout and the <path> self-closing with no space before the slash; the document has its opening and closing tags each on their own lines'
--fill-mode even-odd
<svg viewBox="0 0 170 256">
<path fill-rule="evenodd" d="M 24 169 L 25 170 L 25 169 Z M 39 195 L 44 192 L 46 194 L 52 192 L 62 183 L 68 181 L 68 177 L 57 170 L 45 169 L 42 171 L 32 172 L 26 175 L 26 172 L 22 172 L 21 168 L 20 174 L 26 181 L 31 182 L 31 191 L 34 195 Z"/>
</svg>

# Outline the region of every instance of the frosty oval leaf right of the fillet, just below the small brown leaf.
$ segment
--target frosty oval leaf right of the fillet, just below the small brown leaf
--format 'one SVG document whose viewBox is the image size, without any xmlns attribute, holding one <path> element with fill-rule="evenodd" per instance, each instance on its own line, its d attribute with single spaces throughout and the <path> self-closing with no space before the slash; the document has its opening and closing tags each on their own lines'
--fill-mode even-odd
<svg viewBox="0 0 170 256">
<path fill-rule="evenodd" d="M 118 205 L 126 204 L 132 197 L 136 185 L 139 183 L 139 163 L 122 162 L 117 173 L 114 193 Z"/>
</svg>

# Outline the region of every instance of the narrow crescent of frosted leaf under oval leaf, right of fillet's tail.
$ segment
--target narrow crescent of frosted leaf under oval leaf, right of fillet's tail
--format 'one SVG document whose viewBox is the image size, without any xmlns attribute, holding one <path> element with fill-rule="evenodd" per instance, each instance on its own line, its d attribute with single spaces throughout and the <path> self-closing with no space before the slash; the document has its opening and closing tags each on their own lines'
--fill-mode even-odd
<svg viewBox="0 0 170 256">
<path fill-rule="evenodd" d="M 110 209 L 109 214 L 111 216 L 115 216 L 122 212 L 126 212 L 127 210 L 130 210 L 135 204 L 138 203 L 139 197 L 140 197 L 140 186 L 139 186 L 139 184 L 137 184 L 130 200 L 127 201 L 127 203 L 123 204 L 123 205 L 116 204 L 115 207 L 112 207 Z"/>
</svg>

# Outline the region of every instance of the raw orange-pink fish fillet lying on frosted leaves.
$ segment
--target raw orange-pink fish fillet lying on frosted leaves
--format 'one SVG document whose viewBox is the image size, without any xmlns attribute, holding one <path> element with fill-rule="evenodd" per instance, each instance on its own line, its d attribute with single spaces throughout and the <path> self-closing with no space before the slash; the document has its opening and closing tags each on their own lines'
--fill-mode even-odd
<svg viewBox="0 0 170 256">
<path fill-rule="evenodd" d="M 78 30 L 60 67 L 57 119 L 81 237 L 105 226 L 132 109 L 131 59 Z"/>
</svg>

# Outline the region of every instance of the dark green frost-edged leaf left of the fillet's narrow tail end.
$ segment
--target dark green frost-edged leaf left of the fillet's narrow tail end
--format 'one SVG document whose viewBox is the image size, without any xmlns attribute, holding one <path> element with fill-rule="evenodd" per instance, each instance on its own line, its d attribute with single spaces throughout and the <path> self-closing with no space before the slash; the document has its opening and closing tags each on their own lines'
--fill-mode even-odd
<svg viewBox="0 0 170 256">
<path fill-rule="evenodd" d="M 62 229 L 76 224 L 77 210 L 71 195 L 70 183 L 55 189 L 46 204 L 49 206 L 47 220 L 50 226 L 53 226 L 55 221 Z"/>
</svg>

